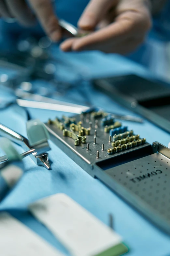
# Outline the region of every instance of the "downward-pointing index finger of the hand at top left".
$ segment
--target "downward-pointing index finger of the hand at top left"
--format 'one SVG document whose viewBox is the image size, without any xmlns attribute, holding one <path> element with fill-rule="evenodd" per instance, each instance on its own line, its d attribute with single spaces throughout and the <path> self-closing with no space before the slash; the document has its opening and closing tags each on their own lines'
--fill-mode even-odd
<svg viewBox="0 0 170 256">
<path fill-rule="evenodd" d="M 50 0 L 29 0 L 36 16 L 42 27 L 52 41 L 58 41 L 61 38 L 61 28 L 57 17 L 53 11 Z"/>
</svg>

